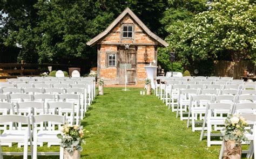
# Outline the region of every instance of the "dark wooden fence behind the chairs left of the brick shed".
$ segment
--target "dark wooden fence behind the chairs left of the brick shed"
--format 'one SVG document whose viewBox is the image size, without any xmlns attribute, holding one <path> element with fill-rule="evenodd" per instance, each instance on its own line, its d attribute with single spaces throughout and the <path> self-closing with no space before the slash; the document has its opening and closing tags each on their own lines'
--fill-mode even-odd
<svg viewBox="0 0 256 159">
<path fill-rule="evenodd" d="M 49 72 L 48 66 L 52 66 L 52 70 L 69 71 L 70 67 L 81 68 L 84 66 L 67 65 L 67 64 L 30 64 L 30 63 L 0 63 L 0 79 L 17 78 L 18 76 L 39 76 L 44 72 Z"/>
</svg>

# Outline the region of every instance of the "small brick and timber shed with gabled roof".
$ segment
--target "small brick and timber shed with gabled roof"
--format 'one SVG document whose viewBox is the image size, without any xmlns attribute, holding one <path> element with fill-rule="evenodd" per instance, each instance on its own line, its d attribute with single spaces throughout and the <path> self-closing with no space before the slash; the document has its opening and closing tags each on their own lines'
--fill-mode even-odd
<svg viewBox="0 0 256 159">
<path fill-rule="evenodd" d="M 131 64 L 127 69 L 127 84 L 144 85 L 147 77 L 144 66 L 157 62 L 157 48 L 169 44 L 126 8 L 105 31 L 86 43 L 97 45 L 98 78 L 105 84 L 125 84 L 125 69 L 122 64 Z"/>
</svg>

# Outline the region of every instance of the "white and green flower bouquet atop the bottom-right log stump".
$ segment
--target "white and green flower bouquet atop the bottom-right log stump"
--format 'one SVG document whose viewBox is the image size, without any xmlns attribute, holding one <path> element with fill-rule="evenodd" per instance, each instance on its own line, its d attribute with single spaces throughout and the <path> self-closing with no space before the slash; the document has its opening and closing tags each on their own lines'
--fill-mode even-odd
<svg viewBox="0 0 256 159">
<path fill-rule="evenodd" d="M 245 118 L 239 115 L 232 115 L 225 120 L 225 128 L 222 130 L 223 138 L 225 141 L 233 140 L 236 143 L 246 141 L 245 126 L 247 126 Z"/>
</svg>

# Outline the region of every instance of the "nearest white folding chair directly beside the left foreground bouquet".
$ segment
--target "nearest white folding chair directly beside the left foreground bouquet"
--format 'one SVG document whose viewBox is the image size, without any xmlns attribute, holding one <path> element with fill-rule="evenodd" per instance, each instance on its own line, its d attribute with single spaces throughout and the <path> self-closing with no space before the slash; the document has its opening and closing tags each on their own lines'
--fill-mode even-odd
<svg viewBox="0 0 256 159">
<path fill-rule="evenodd" d="M 62 115 L 44 114 L 44 115 L 32 115 L 32 129 L 33 129 L 33 159 L 37 159 L 38 155 L 59 155 L 59 158 L 63 159 L 64 150 L 60 147 L 59 152 L 38 152 L 37 145 L 41 142 L 58 143 L 61 141 L 57 135 L 61 134 L 61 126 L 65 122 L 65 117 Z M 42 126 L 44 122 L 47 122 L 46 129 Z M 55 126 L 58 129 L 55 129 Z M 39 128 L 38 128 L 39 127 Z M 37 131 L 39 129 L 39 131 Z"/>
</svg>

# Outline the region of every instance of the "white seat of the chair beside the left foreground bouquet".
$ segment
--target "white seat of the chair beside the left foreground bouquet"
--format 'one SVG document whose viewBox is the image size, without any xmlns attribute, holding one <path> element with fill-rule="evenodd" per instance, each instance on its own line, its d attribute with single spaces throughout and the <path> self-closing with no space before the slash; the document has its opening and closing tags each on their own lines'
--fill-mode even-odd
<svg viewBox="0 0 256 159">
<path fill-rule="evenodd" d="M 60 134 L 60 131 L 38 131 L 37 141 L 38 142 L 60 142 L 60 139 L 57 137 L 57 134 Z"/>
</svg>

